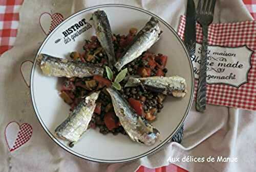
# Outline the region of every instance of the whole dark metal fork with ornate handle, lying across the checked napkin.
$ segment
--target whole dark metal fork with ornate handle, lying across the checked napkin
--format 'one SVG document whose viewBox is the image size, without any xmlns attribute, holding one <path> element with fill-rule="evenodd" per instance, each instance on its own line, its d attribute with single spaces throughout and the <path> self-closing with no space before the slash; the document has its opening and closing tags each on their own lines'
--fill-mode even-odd
<svg viewBox="0 0 256 172">
<path fill-rule="evenodd" d="M 197 6 L 197 21 L 203 29 L 203 45 L 200 64 L 200 73 L 197 89 L 196 109 L 204 112 L 206 108 L 206 68 L 207 68 L 207 42 L 208 26 L 214 19 L 214 8 L 216 0 L 199 0 Z"/>
</svg>

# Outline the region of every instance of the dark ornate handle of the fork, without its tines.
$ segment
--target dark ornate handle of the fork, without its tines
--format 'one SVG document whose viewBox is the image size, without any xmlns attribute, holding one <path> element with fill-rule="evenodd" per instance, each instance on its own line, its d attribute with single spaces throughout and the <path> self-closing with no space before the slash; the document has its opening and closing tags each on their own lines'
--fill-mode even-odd
<svg viewBox="0 0 256 172">
<path fill-rule="evenodd" d="M 203 45 L 202 45 L 202 56 L 200 64 L 199 81 L 197 87 L 197 101 L 196 109 L 199 112 L 204 112 L 206 108 L 206 69 L 207 69 L 207 37 L 208 37 L 208 26 L 203 27 Z"/>
</svg>

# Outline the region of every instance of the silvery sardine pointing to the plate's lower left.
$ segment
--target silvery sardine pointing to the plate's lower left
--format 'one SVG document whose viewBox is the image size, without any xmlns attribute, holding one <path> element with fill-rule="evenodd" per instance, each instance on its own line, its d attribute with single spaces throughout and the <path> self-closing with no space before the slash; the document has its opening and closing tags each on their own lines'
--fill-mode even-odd
<svg viewBox="0 0 256 172">
<path fill-rule="evenodd" d="M 98 99 L 100 91 L 94 92 L 85 97 L 70 113 L 69 117 L 60 124 L 55 133 L 59 138 L 77 142 L 82 134 L 87 131 L 89 122 L 92 119 L 95 101 Z"/>
</svg>

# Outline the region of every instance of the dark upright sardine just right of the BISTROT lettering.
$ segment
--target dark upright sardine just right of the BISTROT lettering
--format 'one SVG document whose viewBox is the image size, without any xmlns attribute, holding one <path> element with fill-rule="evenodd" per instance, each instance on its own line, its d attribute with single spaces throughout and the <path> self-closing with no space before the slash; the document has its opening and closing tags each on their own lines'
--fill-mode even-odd
<svg viewBox="0 0 256 172">
<path fill-rule="evenodd" d="M 92 18 L 97 38 L 108 56 L 109 66 L 113 66 L 116 62 L 116 56 L 108 16 L 104 11 L 98 10 L 93 13 Z"/>
</svg>

